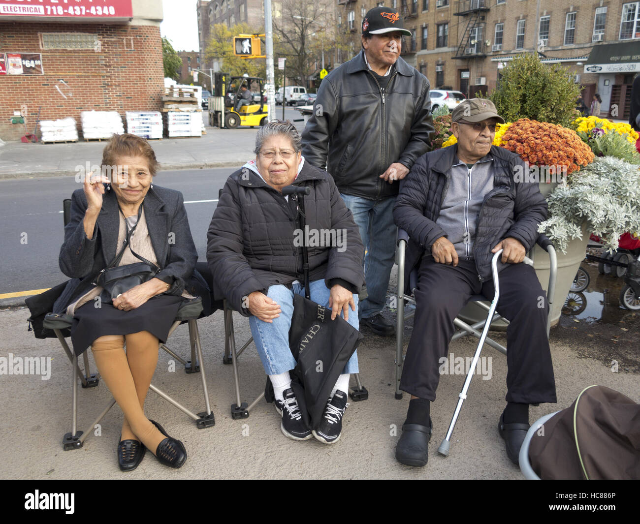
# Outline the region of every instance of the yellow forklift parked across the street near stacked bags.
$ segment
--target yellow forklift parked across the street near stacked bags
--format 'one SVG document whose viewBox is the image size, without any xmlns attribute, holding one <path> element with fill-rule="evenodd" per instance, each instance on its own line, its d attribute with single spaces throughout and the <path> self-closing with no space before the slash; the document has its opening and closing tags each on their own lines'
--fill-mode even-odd
<svg viewBox="0 0 640 524">
<path fill-rule="evenodd" d="M 228 79 L 228 81 L 227 81 Z M 217 84 L 217 85 L 216 85 Z M 252 102 L 236 111 L 241 87 L 252 93 Z M 209 124 L 216 127 L 236 129 L 255 127 L 267 123 L 267 103 L 264 96 L 264 79 L 252 76 L 230 76 L 228 73 L 214 74 L 214 104 L 209 100 Z"/>
</svg>

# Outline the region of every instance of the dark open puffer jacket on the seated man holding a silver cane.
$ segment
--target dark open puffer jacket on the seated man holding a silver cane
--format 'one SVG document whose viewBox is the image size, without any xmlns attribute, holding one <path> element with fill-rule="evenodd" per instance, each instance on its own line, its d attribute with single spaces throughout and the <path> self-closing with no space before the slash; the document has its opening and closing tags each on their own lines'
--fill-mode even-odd
<svg viewBox="0 0 640 524">
<path fill-rule="evenodd" d="M 447 233 L 435 221 L 449 187 L 451 166 L 457 146 L 446 147 L 420 157 L 400 183 L 394 205 L 394 222 L 410 237 L 405 260 L 405 282 L 425 250 Z M 529 251 L 538 238 L 538 225 L 547 218 L 547 201 L 536 182 L 515 182 L 516 166 L 525 164 L 518 155 L 492 146 L 493 189 L 484 196 L 476 221 L 474 258 L 480 280 L 491 278 L 493 246 L 506 237 L 522 242 Z M 498 261 L 498 269 L 504 264 Z"/>
</svg>

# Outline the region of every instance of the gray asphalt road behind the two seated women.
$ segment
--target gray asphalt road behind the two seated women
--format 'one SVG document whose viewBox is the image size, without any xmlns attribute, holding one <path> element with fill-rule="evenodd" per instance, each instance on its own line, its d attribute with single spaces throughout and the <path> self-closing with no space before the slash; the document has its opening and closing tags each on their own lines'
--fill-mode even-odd
<svg viewBox="0 0 640 524">
<path fill-rule="evenodd" d="M 201 261 L 218 191 L 233 168 L 160 171 L 154 183 L 182 191 Z M 0 295 L 44 289 L 67 277 L 58 269 L 64 238 L 62 201 L 79 185 L 73 177 L 0 180 Z M 208 202 L 200 202 L 200 201 Z M 24 298 L 3 299 L 0 305 Z"/>
</svg>

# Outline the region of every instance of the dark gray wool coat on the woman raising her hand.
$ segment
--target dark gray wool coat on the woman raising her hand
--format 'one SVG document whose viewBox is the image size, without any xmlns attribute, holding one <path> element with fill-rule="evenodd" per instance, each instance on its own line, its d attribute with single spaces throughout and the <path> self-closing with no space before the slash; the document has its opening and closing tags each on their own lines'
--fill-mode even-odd
<svg viewBox="0 0 640 524">
<path fill-rule="evenodd" d="M 105 191 L 93 238 L 84 234 L 84 212 L 87 208 L 83 189 L 71 198 L 71 216 L 65 226 L 65 240 L 60 248 L 60 269 L 70 277 L 67 287 L 54 304 L 55 313 L 92 287 L 95 276 L 106 269 L 116 254 L 120 216 L 113 191 Z M 180 191 L 154 184 L 143 202 L 151 244 L 161 271 L 157 278 L 171 284 L 166 294 L 180 296 L 191 277 L 198 253 L 191 237 L 184 200 Z"/>
</svg>

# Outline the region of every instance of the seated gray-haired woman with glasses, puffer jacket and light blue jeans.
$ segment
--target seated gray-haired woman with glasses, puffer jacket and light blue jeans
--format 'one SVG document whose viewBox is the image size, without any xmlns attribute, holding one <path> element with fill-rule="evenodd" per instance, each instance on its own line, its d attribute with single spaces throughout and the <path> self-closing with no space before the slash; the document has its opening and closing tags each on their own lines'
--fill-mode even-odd
<svg viewBox="0 0 640 524">
<path fill-rule="evenodd" d="M 207 261 L 214 282 L 231 305 L 249 317 L 253 340 L 275 393 L 280 428 L 294 440 L 315 436 L 332 444 L 340 438 L 349 374 L 358 372 L 354 353 L 333 387 L 318 429 L 304 424 L 289 371 L 296 361 L 289 349 L 293 296 L 304 294 L 301 241 L 307 241 L 310 297 L 342 314 L 358 328 L 358 292 L 362 287 L 364 248 L 353 216 L 326 171 L 305 163 L 300 135 L 289 122 L 260 128 L 255 161 L 233 173 L 209 226 Z M 298 224 L 296 195 L 286 186 L 307 186 L 306 232 Z M 335 239 L 334 245 L 311 241 Z M 321 244 L 321 245 L 316 245 Z"/>
</svg>

